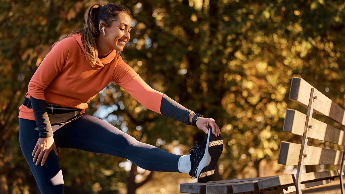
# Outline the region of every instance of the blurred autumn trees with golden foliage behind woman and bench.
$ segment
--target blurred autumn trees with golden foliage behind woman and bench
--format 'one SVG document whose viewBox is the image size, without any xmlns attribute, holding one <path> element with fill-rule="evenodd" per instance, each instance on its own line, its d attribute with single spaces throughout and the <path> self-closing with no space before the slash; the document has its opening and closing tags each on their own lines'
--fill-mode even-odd
<svg viewBox="0 0 345 194">
<path fill-rule="evenodd" d="M 293 171 L 276 162 L 281 140 L 301 139 L 282 132 L 286 108 L 298 107 L 288 100 L 293 76 L 345 105 L 343 0 L 1 0 L 0 193 L 39 193 L 19 147 L 18 107 L 51 45 L 82 27 L 88 7 L 108 2 L 132 12 L 122 58 L 152 88 L 221 128 L 215 180 Z M 172 153 L 187 154 L 205 136 L 146 109 L 115 83 L 89 107 L 88 114 Z M 195 182 L 74 149 L 60 148 L 60 163 L 66 193 L 178 193 L 180 183 Z"/>
</svg>

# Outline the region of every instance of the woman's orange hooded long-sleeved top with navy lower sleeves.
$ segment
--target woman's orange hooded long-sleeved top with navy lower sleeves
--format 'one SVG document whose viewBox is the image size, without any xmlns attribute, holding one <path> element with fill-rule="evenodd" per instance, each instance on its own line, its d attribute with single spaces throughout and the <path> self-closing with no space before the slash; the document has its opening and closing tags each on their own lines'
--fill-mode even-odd
<svg viewBox="0 0 345 194">
<path fill-rule="evenodd" d="M 148 109 L 190 125 L 188 116 L 194 112 L 148 86 L 115 50 L 97 59 L 92 68 L 86 59 L 80 34 L 58 42 L 43 59 L 26 94 L 31 98 L 33 108 L 21 105 L 19 118 L 36 120 L 39 137 L 52 136 L 45 104 L 82 109 L 83 114 L 88 108 L 87 102 L 111 81 Z"/>
</svg>

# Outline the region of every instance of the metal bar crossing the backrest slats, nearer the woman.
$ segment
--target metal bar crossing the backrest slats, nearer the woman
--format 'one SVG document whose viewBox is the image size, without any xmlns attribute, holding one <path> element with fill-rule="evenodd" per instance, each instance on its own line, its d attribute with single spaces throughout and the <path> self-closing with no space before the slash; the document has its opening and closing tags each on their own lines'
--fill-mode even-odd
<svg viewBox="0 0 345 194">
<path fill-rule="evenodd" d="M 297 174 L 296 174 L 296 180 L 295 180 L 295 187 L 296 187 L 296 193 L 297 194 L 302 194 L 301 175 L 302 175 L 302 170 L 303 170 L 303 161 L 304 161 L 304 158 L 306 157 L 305 156 L 305 151 L 306 151 L 307 144 L 308 144 L 309 129 L 312 127 L 310 125 L 310 123 L 312 121 L 312 116 L 313 116 L 314 99 L 316 99 L 316 96 L 315 96 L 315 93 L 314 93 L 314 88 L 312 88 L 311 92 L 310 92 L 310 97 L 309 97 L 307 119 L 306 119 L 305 125 L 304 125 L 302 146 L 301 146 L 301 150 L 300 150 L 300 153 L 299 153 L 299 159 L 298 159 L 299 162 L 298 162 L 298 166 L 297 166 Z"/>
</svg>

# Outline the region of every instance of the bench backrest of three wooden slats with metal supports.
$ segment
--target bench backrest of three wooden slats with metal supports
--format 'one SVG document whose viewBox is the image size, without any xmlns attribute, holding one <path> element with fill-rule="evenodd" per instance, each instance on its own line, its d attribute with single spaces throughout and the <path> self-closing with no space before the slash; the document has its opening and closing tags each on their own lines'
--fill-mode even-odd
<svg viewBox="0 0 345 194">
<path fill-rule="evenodd" d="M 341 171 L 339 172 L 342 172 L 343 169 L 344 151 L 307 146 L 308 138 L 342 146 L 345 145 L 344 131 L 312 118 L 313 112 L 345 125 L 345 110 L 305 80 L 297 77 L 293 77 L 292 79 L 289 99 L 307 107 L 308 110 L 304 114 L 294 109 L 287 109 L 283 131 L 303 136 L 303 140 L 301 144 L 282 142 L 279 150 L 278 163 L 298 165 L 295 186 L 296 191 L 301 193 L 300 177 L 303 165 L 333 164 L 341 165 Z M 325 174 L 325 172 L 318 173 Z M 338 174 L 338 171 L 329 171 L 329 174 L 339 176 L 342 185 L 342 176 Z M 341 188 L 343 191 L 343 187 Z"/>
</svg>

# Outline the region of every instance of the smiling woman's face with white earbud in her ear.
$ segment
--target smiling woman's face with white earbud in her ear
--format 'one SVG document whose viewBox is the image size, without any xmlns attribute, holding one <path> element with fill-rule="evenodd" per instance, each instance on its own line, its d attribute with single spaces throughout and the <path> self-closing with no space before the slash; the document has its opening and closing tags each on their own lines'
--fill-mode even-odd
<svg viewBox="0 0 345 194">
<path fill-rule="evenodd" d="M 132 29 L 131 19 L 127 13 L 120 13 L 118 19 L 111 23 L 110 27 L 105 27 L 105 39 L 111 49 L 118 52 L 124 50 L 124 47 L 130 39 L 130 31 Z M 103 30 L 100 31 L 103 36 Z"/>
</svg>

